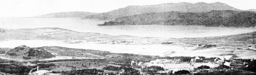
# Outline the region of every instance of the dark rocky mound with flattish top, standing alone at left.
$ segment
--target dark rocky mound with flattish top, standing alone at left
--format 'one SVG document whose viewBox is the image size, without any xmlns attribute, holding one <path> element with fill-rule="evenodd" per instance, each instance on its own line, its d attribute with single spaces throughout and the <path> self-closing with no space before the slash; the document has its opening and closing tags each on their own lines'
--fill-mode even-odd
<svg viewBox="0 0 256 75">
<path fill-rule="evenodd" d="M 30 48 L 25 45 L 15 47 L 9 50 L 5 57 L 22 58 L 22 59 L 45 59 L 54 57 L 51 53 L 45 50 Z"/>
</svg>

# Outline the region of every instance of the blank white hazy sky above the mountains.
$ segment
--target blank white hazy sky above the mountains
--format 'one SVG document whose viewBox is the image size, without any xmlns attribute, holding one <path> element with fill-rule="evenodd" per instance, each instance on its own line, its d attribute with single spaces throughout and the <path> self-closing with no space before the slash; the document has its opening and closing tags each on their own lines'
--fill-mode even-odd
<svg viewBox="0 0 256 75">
<path fill-rule="evenodd" d="M 0 0 L 0 17 L 33 17 L 56 12 L 108 12 L 129 5 L 161 3 L 226 3 L 237 9 L 256 9 L 256 0 Z"/>
</svg>

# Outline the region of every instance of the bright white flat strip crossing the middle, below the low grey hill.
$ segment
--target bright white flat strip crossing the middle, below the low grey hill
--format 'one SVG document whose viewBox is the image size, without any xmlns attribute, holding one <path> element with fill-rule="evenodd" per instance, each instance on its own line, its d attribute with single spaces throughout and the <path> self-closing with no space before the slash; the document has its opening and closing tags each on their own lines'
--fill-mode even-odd
<svg viewBox="0 0 256 75">
<path fill-rule="evenodd" d="M 15 43 L 14 43 L 15 42 Z M 10 45 L 10 43 L 12 45 Z M 217 47 L 212 48 L 204 48 L 204 49 L 196 49 L 198 46 L 197 43 L 185 44 L 184 43 L 176 43 L 171 45 L 161 45 L 161 44 L 108 44 L 108 43 L 64 43 L 62 41 L 47 41 L 47 40 L 12 40 L 12 41 L 4 41 L 0 42 L 1 47 L 15 47 L 19 45 L 27 45 L 30 47 L 41 47 L 41 46 L 61 46 L 61 47 L 69 47 L 75 49 L 90 49 L 90 50 L 101 50 L 101 51 L 109 51 L 111 53 L 131 53 L 131 54 L 143 54 L 143 55 L 159 55 L 159 56 L 204 56 L 204 57 L 223 57 L 226 55 L 236 55 L 238 58 L 255 58 L 256 51 L 250 50 L 241 50 L 242 47 L 246 47 L 246 43 L 219 43 L 219 42 L 207 42 L 209 44 L 217 45 Z M 249 44 L 251 45 L 251 44 Z M 240 48 L 240 49 L 237 49 Z M 54 52 L 51 49 L 49 52 Z M 86 58 L 102 58 L 101 56 L 87 53 L 86 51 L 72 51 L 65 52 L 59 51 L 57 54 L 71 53 L 78 54 L 76 57 L 86 57 Z M 71 57 L 70 57 L 71 58 Z"/>
</svg>

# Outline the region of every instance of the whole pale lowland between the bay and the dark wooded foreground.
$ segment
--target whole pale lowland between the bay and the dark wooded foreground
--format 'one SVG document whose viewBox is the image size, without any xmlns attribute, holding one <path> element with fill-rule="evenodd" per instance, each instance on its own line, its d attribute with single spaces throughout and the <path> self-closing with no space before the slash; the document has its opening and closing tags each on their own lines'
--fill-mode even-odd
<svg viewBox="0 0 256 75">
<path fill-rule="evenodd" d="M 15 33 L 17 35 L 14 36 Z M 60 28 L 36 28 L 7 30 L 0 33 L 0 47 L 14 48 L 20 45 L 30 47 L 60 46 L 75 48 L 48 49 L 49 52 L 63 56 L 85 58 L 102 58 L 94 50 L 109 51 L 111 53 L 130 53 L 159 56 L 204 56 L 204 57 L 230 57 L 255 58 L 256 51 L 241 50 L 243 47 L 252 46 L 256 32 L 235 34 L 229 36 L 204 37 L 204 38 L 160 38 L 160 37 L 135 37 L 111 36 L 99 33 L 82 33 Z M 35 38 L 37 37 L 37 38 Z M 26 39 L 24 39 L 26 38 Z M 33 38 L 33 39 L 31 39 Z M 162 42 L 172 42 L 165 45 Z M 199 48 L 198 45 L 217 45 L 211 48 Z M 89 49 L 89 50 L 79 50 Z M 67 54 L 70 53 L 70 54 Z"/>
</svg>

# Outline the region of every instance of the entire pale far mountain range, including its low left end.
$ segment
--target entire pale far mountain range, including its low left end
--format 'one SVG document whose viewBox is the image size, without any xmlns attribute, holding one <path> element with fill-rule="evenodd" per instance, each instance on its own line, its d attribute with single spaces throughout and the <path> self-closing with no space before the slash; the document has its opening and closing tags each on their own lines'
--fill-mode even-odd
<svg viewBox="0 0 256 75">
<path fill-rule="evenodd" d="M 163 3 L 155 5 L 131 5 L 124 8 L 116 9 L 105 13 L 93 13 L 93 12 L 61 12 L 61 13 L 50 13 L 39 15 L 35 17 L 82 17 L 84 19 L 98 19 L 98 20 L 109 20 L 114 21 L 119 17 L 133 16 L 144 13 L 159 13 L 159 12 L 172 12 L 177 11 L 181 13 L 205 13 L 210 11 L 252 11 L 256 9 L 240 10 L 231 7 L 225 3 Z"/>
</svg>

